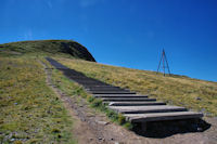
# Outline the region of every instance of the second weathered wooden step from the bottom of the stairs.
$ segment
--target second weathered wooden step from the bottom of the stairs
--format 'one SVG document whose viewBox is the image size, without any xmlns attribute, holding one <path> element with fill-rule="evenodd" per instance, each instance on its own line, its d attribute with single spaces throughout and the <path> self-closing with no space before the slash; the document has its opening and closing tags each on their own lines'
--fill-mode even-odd
<svg viewBox="0 0 217 144">
<path fill-rule="evenodd" d="M 180 106 L 157 105 L 157 106 L 108 106 L 122 114 L 149 114 L 149 113 L 169 113 L 186 112 L 187 108 Z"/>
</svg>

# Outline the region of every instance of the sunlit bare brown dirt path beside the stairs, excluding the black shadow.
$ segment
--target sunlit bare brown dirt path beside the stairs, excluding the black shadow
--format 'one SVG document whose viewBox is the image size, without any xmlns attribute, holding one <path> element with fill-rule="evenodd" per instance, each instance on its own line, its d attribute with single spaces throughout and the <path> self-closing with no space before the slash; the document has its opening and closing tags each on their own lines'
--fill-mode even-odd
<svg viewBox="0 0 217 144">
<path fill-rule="evenodd" d="M 62 100 L 64 106 L 74 119 L 73 136 L 79 144 L 217 144 L 217 119 L 208 118 L 210 129 L 204 132 L 187 132 L 171 134 L 166 138 L 148 138 L 128 131 L 110 122 L 104 114 L 89 108 L 81 97 L 73 97 L 58 89 L 52 80 L 52 69 L 40 62 L 47 75 L 47 83 Z"/>
</svg>

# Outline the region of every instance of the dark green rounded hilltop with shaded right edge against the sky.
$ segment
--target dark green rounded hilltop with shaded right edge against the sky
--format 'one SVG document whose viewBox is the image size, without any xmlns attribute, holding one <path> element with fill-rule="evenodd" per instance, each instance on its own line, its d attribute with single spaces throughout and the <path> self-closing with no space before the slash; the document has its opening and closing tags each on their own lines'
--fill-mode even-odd
<svg viewBox="0 0 217 144">
<path fill-rule="evenodd" d="M 95 62 L 89 51 L 72 40 L 37 40 L 0 44 L 0 55 L 56 55 Z"/>
</svg>

